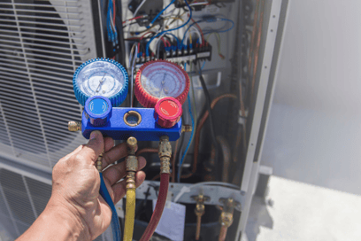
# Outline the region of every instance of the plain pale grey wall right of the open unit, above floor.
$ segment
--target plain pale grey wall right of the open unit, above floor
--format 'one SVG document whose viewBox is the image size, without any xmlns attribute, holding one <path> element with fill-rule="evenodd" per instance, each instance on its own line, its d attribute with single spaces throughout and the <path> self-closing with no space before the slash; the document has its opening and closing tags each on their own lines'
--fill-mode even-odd
<svg viewBox="0 0 361 241">
<path fill-rule="evenodd" d="M 361 194 L 361 1 L 290 0 L 262 164 Z"/>
</svg>

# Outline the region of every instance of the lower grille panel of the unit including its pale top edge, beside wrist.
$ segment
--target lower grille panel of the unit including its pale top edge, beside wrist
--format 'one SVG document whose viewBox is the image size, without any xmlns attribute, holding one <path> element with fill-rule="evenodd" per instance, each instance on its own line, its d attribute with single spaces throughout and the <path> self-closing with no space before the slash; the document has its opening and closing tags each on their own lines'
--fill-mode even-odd
<svg viewBox="0 0 361 241">
<path fill-rule="evenodd" d="M 0 240 L 14 240 L 42 213 L 51 196 L 51 175 L 0 159 Z M 111 228 L 96 241 L 111 241 Z"/>
</svg>

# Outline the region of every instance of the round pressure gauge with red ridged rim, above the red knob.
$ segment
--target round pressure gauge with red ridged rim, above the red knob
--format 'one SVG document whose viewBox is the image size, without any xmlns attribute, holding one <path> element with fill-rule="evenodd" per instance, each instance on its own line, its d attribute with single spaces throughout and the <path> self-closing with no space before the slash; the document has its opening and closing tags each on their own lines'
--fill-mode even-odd
<svg viewBox="0 0 361 241">
<path fill-rule="evenodd" d="M 163 97 L 173 97 L 183 104 L 188 91 L 188 74 L 169 61 L 150 61 L 136 74 L 134 93 L 144 107 L 154 107 Z"/>
</svg>

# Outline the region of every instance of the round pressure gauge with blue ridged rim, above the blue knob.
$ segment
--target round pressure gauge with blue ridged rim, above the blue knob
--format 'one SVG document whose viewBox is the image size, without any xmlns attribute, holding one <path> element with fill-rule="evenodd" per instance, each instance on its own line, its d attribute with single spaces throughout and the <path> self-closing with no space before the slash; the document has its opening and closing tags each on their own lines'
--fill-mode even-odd
<svg viewBox="0 0 361 241">
<path fill-rule="evenodd" d="M 88 60 L 78 67 L 73 76 L 75 97 L 81 105 L 85 105 L 89 97 L 101 96 L 108 98 L 111 105 L 117 107 L 126 99 L 127 88 L 126 69 L 109 58 Z M 94 100 L 91 105 L 97 106 L 99 103 Z"/>
</svg>

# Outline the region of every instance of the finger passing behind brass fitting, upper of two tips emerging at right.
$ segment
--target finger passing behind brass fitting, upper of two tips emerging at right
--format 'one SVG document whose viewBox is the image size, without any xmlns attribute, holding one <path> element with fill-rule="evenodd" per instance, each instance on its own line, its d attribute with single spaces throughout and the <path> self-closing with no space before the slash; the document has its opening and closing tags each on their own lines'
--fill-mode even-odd
<svg viewBox="0 0 361 241">
<path fill-rule="evenodd" d="M 138 171 L 141 170 L 145 165 L 147 164 L 147 161 L 143 157 L 138 158 Z M 117 183 L 121 178 L 127 175 L 127 167 L 126 167 L 126 161 L 120 162 L 116 165 L 113 165 L 109 168 L 107 168 L 103 172 L 103 176 L 106 180 L 108 180 L 111 185 Z"/>
</svg>

